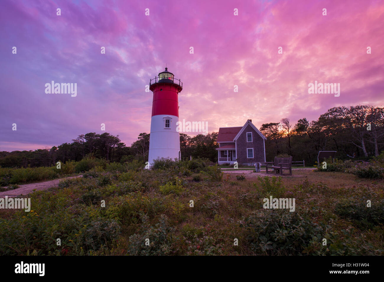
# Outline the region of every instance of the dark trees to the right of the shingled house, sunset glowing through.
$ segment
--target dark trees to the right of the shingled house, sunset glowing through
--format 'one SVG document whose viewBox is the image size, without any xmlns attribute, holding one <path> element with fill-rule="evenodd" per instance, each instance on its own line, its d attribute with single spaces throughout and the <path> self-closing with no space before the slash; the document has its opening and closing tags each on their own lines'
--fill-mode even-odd
<svg viewBox="0 0 384 282">
<path fill-rule="evenodd" d="M 286 154 L 313 164 L 319 151 L 337 151 L 339 159 L 368 159 L 384 149 L 384 108 L 333 107 L 318 120 L 303 118 L 292 124 L 283 118 L 263 124 L 260 131 L 267 138 L 267 161 Z"/>
</svg>

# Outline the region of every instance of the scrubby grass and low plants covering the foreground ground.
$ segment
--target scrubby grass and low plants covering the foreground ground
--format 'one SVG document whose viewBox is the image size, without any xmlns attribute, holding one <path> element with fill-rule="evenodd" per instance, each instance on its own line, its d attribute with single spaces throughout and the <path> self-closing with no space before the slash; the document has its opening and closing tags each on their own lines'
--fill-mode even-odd
<svg viewBox="0 0 384 282">
<path fill-rule="evenodd" d="M 0 209 L 0 255 L 384 254 L 382 223 L 367 225 L 356 219 L 358 210 L 336 209 L 366 199 L 384 208 L 384 180 L 302 170 L 305 177 L 283 177 L 275 189 L 257 174 L 237 180 L 224 171 L 221 180 L 210 181 L 213 170 L 182 172 L 99 167 L 35 192 L 31 213 Z M 263 209 L 271 191 L 295 198 L 296 211 Z M 52 243 L 56 238 L 61 246 Z M 151 246 L 144 245 L 146 238 Z"/>
</svg>

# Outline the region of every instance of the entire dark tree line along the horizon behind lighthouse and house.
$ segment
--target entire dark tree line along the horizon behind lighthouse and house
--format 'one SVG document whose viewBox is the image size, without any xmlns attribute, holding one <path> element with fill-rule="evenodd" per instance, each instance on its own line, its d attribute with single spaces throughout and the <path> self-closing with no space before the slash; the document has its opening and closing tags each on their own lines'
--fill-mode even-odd
<svg viewBox="0 0 384 282">
<path fill-rule="evenodd" d="M 266 161 L 277 155 L 292 156 L 314 164 L 319 151 L 337 151 L 339 159 L 367 159 L 379 155 L 384 145 L 384 108 L 373 106 L 333 107 L 309 122 L 306 118 L 296 124 L 283 118 L 280 122 L 262 124 L 260 131 L 266 137 Z M 191 137 L 180 133 L 180 151 L 183 159 L 208 158 L 217 162 L 218 132 Z M 1 167 L 42 167 L 57 161 L 79 161 L 86 155 L 104 158 L 110 162 L 133 159 L 146 162 L 149 152 L 149 134 L 141 133 L 127 147 L 119 135 L 95 132 L 79 135 L 71 143 L 35 151 L 0 152 Z"/>
</svg>

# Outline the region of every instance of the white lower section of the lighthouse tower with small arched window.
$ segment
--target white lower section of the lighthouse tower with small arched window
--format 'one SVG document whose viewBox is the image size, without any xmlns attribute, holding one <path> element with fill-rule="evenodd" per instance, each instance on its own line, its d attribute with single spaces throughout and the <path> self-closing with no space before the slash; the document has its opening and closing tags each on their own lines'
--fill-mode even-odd
<svg viewBox="0 0 384 282">
<path fill-rule="evenodd" d="M 166 127 L 169 119 L 169 127 Z M 151 118 L 148 162 L 151 166 L 156 158 L 181 158 L 180 134 L 176 130 L 179 117 L 175 115 L 154 115 Z"/>
</svg>

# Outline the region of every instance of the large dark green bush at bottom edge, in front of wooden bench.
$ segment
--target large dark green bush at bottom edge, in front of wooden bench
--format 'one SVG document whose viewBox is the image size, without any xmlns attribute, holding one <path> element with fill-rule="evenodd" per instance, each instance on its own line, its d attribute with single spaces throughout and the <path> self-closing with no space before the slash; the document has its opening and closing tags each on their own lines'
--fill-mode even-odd
<svg viewBox="0 0 384 282">
<path fill-rule="evenodd" d="M 321 244 L 324 229 L 307 211 L 291 213 L 262 209 L 240 221 L 246 228 L 247 244 L 255 254 L 301 255 L 311 241 Z"/>
</svg>

